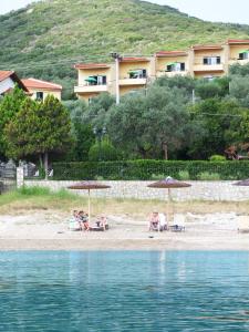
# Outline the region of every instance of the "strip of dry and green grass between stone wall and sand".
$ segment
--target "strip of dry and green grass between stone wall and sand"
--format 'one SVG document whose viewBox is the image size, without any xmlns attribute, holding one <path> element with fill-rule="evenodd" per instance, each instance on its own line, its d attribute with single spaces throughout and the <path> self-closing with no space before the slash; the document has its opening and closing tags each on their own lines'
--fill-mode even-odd
<svg viewBox="0 0 249 332">
<path fill-rule="evenodd" d="M 139 200 L 122 198 L 91 198 L 92 212 L 98 215 L 122 215 L 133 219 L 143 219 L 152 210 L 166 211 L 167 204 L 162 200 Z M 249 214 L 248 201 L 180 201 L 172 208 L 177 212 L 210 214 L 229 212 Z M 69 215 L 73 209 L 87 209 L 87 197 L 68 190 L 56 193 L 41 187 L 23 187 L 22 189 L 0 196 L 0 215 L 20 215 L 46 210 L 51 214 Z"/>
</svg>

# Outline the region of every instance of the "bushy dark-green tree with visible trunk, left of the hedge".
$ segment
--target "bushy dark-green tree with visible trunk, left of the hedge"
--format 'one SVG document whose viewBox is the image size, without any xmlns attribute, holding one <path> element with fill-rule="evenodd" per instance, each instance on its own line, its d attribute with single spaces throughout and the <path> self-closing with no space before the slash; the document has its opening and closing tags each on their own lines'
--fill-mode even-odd
<svg viewBox="0 0 249 332">
<path fill-rule="evenodd" d="M 27 100 L 4 133 L 8 155 L 14 158 L 39 156 L 46 175 L 49 154 L 65 153 L 73 144 L 69 113 L 52 95 L 44 103 Z"/>
</svg>

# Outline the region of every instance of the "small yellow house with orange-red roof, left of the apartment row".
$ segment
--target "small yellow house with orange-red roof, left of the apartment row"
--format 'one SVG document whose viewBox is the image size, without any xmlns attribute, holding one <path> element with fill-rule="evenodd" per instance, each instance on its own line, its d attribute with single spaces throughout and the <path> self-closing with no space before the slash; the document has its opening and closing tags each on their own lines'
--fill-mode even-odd
<svg viewBox="0 0 249 332">
<path fill-rule="evenodd" d="M 24 79 L 21 81 L 29 90 L 32 100 L 44 101 L 45 97 L 51 94 L 61 101 L 61 85 L 37 79 Z"/>
</svg>

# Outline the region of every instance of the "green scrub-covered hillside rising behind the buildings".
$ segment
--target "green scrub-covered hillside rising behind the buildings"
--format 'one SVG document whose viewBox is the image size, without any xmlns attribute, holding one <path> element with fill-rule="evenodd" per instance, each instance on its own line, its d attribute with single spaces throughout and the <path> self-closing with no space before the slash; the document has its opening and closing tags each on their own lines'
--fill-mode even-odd
<svg viewBox="0 0 249 332">
<path fill-rule="evenodd" d="M 46 0 L 0 15 L 0 69 L 63 83 L 72 91 L 80 61 L 111 51 L 151 54 L 196 43 L 249 38 L 249 25 L 211 23 L 138 0 Z"/>
</svg>

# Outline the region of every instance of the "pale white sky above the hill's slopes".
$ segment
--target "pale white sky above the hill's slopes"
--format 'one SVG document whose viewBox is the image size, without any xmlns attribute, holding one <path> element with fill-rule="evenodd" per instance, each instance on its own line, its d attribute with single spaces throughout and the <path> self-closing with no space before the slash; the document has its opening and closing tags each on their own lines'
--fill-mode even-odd
<svg viewBox="0 0 249 332">
<path fill-rule="evenodd" d="M 34 1 L 0 0 L 0 14 L 17 10 L 31 2 Z M 235 0 L 149 0 L 149 2 L 168 4 L 207 21 L 249 24 L 249 0 L 238 2 Z"/>
</svg>

